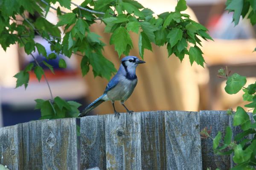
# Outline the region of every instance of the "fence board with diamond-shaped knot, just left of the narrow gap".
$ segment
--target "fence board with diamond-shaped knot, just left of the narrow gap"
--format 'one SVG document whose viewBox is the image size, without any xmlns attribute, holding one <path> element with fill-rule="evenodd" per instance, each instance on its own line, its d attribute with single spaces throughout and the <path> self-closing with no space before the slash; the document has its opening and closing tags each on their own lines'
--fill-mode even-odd
<svg viewBox="0 0 256 170">
<path fill-rule="evenodd" d="M 77 170 L 76 119 L 42 122 L 43 170 Z"/>
</svg>

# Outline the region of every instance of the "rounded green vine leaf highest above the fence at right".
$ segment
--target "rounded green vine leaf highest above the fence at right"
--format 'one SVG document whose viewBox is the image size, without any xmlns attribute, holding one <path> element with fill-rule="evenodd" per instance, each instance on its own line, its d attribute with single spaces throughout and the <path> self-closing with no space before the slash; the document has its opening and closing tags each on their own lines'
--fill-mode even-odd
<svg viewBox="0 0 256 170">
<path fill-rule="evenodd" d="M 225 91 L 228 94 L 236 94 L 241 90 L 245 83 L 246 77 L 240 76 L 239 74 L 235 73 L 232 76 L 228 77 Z"/>
</svg>

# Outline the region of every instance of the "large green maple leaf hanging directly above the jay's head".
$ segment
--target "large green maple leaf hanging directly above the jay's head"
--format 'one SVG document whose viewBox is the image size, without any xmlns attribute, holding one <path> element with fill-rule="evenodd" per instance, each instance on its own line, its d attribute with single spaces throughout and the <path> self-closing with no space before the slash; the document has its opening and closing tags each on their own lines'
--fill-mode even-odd
<svg viewBox="0 0 256 170">
<path fill-rule="evenodd" d="M 128 46 L 133 47 L 131 37 L 124 27 L 119 27 L 113 32 L 110 38 L 110 45 L 112 44 L 115 45 L 115 51 L 117 51 L 119 57 Z"/>
</svg>

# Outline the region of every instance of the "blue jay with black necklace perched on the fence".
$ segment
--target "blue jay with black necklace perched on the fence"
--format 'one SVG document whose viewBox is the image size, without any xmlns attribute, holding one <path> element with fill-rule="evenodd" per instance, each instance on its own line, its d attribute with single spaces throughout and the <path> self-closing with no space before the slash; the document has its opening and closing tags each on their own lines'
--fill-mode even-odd
<svg viewBox="0 0 256 170">
<path fill-rule="evenodd" d="M 127 113 L 133 113 L 129 111 L 128 108 L 124 105 L 124 102 L 131 96 L 134 91 L 135 86 L 137 85 L 137 76 L 136 68 L 138 64 L 145 63 L 138 59 L 135 56 L 127 56 L 121 60 L 121 65 L 116 75 L 108 82 L 108 85 L 98 99 L 88 105 L 82 113 L 79 114 L 80 117 L 86 116 L 87 113 L 92 111 L 98 105 L 105 101 L 111 101 L 115 113 L 115 117 L 119 118 L 119 113 L 115 109 L 114 102 L 120 100 L 121 104 L 125 107 Z"/>
</svg>

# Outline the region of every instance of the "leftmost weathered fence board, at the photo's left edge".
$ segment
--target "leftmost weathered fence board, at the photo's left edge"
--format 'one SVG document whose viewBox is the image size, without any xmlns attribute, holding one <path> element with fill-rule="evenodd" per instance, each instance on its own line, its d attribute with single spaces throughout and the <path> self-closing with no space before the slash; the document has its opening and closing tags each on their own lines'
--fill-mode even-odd
<svg viewBox="0 0 256 170">
<path fill-rule="evenodd" d="M 0 164 L 11 170 L 18 170 L 18 125 L 0 128 Z"/>
</svg>

